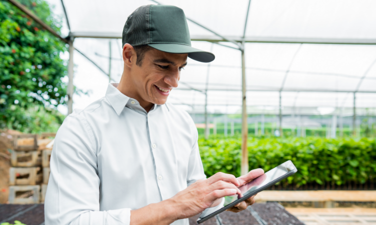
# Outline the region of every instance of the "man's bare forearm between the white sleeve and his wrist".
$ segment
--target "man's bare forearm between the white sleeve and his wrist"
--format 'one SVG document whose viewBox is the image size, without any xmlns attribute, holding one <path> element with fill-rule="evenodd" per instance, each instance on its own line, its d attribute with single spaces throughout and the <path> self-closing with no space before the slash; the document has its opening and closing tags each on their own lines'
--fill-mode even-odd
<svg viewBox="0 0 376 225">
<path fill-rule="evenodd" d="M 170 199 L 130 211 L 130 225 L 171 224 L 177 220 L 177 207 Z"/>
</svg>

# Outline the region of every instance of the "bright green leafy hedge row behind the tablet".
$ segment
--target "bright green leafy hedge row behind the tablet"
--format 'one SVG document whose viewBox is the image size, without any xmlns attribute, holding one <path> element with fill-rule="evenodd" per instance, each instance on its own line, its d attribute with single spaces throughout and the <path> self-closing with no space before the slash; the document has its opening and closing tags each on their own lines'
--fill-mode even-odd
<svg viewBox="0 0 376 225">
<path fill-rule="evenodd" d="M 240 137 L 199 137 L 203 168 L 207 176 L 222 171 L 240 175 Z M 298 171 L 287 178 L 296 187 L 305 183 L 348 181 L 364 183 L 376 176 L 376 139 L 326 139 L 288 137 L 248 139 L 249 169 L 265 171 L 291 160 Z"/>
</svg>

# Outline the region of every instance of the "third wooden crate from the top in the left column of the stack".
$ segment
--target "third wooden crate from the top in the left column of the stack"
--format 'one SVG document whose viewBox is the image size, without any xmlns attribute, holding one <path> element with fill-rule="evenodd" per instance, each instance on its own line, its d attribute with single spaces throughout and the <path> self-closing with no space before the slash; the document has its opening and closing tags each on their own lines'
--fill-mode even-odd
<svg viewBox="0 0 376 225">
<path fill-rule="evenodd" d="M 10 167 L 9 185 L 35 185 L 42 181 L 43 174 L 40 167 Z"/>
</svg>

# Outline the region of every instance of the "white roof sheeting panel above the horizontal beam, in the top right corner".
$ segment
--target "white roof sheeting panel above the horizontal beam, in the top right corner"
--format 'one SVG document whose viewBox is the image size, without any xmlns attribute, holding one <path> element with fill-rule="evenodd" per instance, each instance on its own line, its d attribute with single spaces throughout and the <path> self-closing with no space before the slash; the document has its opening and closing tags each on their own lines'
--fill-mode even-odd
<svg viewBox="0 0 376 225">
<path fill-rule="evenodd" d="M 252 0 L 246 36 L 375 38 L 374 0 Z"/>
</svg>

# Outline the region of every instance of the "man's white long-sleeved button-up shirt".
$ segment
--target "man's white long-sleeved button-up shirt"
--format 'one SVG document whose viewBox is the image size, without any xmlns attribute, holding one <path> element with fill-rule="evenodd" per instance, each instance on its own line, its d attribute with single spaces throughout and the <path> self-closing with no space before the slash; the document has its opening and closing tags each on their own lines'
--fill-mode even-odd
<svg viewBox="0 0 376 225">
<path fill-rule="evenodd" d="M 57 131 L 44 202 L 45 224 L 129 224 L 130 210 L 204 179 L 197 129 L 172 104 L 147 113 L 109 84 Z M 173 224 L 188 224 L 188 219 Z"/>
</svg>

